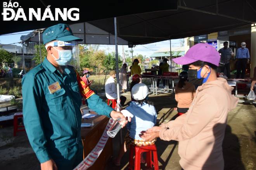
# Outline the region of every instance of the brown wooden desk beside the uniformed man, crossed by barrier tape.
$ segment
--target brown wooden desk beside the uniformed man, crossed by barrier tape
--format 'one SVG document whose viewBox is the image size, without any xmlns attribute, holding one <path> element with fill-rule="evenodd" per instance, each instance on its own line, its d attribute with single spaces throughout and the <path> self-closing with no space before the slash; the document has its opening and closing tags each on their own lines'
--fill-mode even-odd
<svg viewBox="0 0 256 170">
<path fill-rule="evenodd" d="M 95 112 L 90 112 L 96 114 Z M 102 115 L 96 115 L 90 119 L 82 119 L 82 123 L 92 123 L 94 126 L 88 128 L 81 128 L 81 138 L 83 142 L 83 158 L 85 158 L 97 145 L 100 137 L 102 136 L 104 129 L 106 128 L 109 118 Z M 107 161 L 112 156 L 112 139 L 109 138 L 106 146 L 104 147 L 99 158 L 88 170 L 104 170 Z"/>
</svg>

